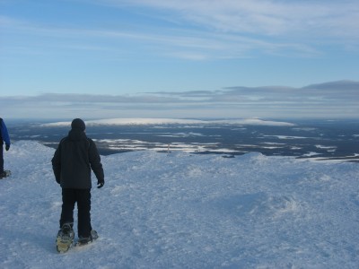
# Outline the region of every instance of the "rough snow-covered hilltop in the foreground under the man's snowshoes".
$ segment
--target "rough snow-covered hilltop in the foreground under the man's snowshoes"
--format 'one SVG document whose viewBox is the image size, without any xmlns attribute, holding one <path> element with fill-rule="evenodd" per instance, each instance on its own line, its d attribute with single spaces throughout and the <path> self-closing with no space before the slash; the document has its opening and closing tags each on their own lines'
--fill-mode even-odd
<svg viewBox="0 0 359 269">
<path fill-rule="evenodd" d="M 0 180 L 1 268 L 358 268 L 359 165 L 250 153 L 102 157 L 100 239 L 57 254 L 54 149 L 19 141 Z M 94 181 L 94 178 L 93 178 Z"/>
</svg>

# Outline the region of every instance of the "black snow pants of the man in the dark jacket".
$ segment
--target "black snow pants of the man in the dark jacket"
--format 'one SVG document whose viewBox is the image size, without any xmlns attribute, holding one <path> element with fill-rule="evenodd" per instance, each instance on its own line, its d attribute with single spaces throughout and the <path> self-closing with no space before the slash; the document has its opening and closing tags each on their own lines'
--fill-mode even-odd
<svg viewBox="0 0 359 269">
<path fill-rule="evenodd" d="M 91 189 L 62 189 L 62 212 L 60 228 L 65 223 L 74 225 L 74 204 L 77 203 L 77 231 L 79 238 L 90 237 L 91 226 Z"/>
</svg>

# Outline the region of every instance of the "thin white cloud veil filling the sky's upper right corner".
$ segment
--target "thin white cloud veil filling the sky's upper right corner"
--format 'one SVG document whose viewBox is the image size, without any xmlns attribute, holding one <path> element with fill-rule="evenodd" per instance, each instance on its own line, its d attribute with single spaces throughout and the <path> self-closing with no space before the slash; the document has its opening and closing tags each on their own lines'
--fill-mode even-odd
<svg viewBox="0 0 359 269">
<path fill-rule="evenodd" d="M 192 22 L 221 32 L 267 36 L 289 35 L 346 36 L 359 38 L 359 6 L 353 1 L 274 1 L 274 0 L 101 0 L 102 4 L 150 7 L 169 22 Z M 161 11 L 177 13 L 166 16 Z"/>
</svg>

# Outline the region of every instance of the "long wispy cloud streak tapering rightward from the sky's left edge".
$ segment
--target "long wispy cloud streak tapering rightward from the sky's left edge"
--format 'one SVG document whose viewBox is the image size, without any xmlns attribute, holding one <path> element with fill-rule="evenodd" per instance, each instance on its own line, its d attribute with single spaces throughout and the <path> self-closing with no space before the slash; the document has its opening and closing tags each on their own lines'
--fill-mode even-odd
<svg viewBox="0 0 359 269">
<path fill-rule="evenodd" d="M 193 61 L 242 58 L 251 56 L 254 52 L 297 56 L 316 56 L 319 53 L 316 48 L 306 44 L 239 36 L 228 32 L 166 27 L 161 30 L 154 27 L 136 30 L 92 26 L 65 28 L 62 25 L 47 26 L 4 17 L 2 21 L 6 22 L 3 25 L 3 28 L 6 26 L 5 35 L 21 34 L 31 38 L 26 46 L 3 46 L 8 52 L 22 55 L 55 52 L 81 55 L 92 51 L 92 56 L 103 56 L 105 53 L 113 61 L 117 56 L 133 56 L 134 52 L 127 48 L 129 44 L 132 44 L 132 49 L 137 48 L 138 56 L 154 55 Z M 61 42 L 57 42 L 58 39 Z"/>
</svg>

